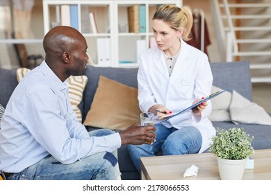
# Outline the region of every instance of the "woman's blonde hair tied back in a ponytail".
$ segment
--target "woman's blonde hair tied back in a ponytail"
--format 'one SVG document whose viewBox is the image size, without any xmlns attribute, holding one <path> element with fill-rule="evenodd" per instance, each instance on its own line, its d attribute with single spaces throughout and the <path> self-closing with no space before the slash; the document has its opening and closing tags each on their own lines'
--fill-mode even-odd
<svg viewBox="0 0 271 194">
<path fill-rule="evenodd" d="M 190 31 L 193 25 L 192 11 L 188 6 L 179 8 L 174 5 L 161 5 L 157 8 L 152 19 L 161 19 L 174 30 L 183 29 L 183 40 L 190 40 Z"/>
</svg>

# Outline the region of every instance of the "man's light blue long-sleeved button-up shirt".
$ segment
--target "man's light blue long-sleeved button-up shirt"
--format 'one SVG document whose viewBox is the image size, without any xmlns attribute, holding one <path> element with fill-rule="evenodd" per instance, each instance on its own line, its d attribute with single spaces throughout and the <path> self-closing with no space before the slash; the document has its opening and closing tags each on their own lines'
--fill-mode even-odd
<svg viewBox="0 0 271 194">
<path fill-rule="evenodd" d="M 13 92 L 1 120 L 0 170 L 18 173 L 47 155 L 63 164 L 120 148 L 120 134 L 89 136 L 69 103 L 67 83 L 46 62 Z"/>
</svg>

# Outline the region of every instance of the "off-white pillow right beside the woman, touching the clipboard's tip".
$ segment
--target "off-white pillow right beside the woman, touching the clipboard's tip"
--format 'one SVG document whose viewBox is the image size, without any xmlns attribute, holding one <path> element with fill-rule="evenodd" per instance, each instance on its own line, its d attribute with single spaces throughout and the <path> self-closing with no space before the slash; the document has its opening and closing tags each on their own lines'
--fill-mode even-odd
<svg viewBox="0 0 271 194">
<path fill-rule="evenodd" d="M 219 87 L 212 86 L 211 94 L 222 91 Z M 211 99 L 212 112 L 208 117 L 210 121 L 231 121 L 229 116 L 229 105 L 231 104 L 231 92 L 224 91 L 222 94 Z"/>
</svg>

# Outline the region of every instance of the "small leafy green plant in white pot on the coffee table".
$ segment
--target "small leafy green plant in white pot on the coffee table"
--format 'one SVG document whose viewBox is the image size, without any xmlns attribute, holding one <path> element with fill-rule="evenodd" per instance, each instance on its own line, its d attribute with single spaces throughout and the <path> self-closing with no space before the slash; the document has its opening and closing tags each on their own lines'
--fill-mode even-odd
<svg viewBox="0 0 271 194">
<path fill-rule="evenodd" d="M 249 136 L 241 128 L 217 129 L 217 135 L 212 137 L 209 152 L 217 156 L 220 179 L 243 178 L 245 161 L 254 153 L 251 145 L 253 138 L 254 136 Z"/>
</svg>

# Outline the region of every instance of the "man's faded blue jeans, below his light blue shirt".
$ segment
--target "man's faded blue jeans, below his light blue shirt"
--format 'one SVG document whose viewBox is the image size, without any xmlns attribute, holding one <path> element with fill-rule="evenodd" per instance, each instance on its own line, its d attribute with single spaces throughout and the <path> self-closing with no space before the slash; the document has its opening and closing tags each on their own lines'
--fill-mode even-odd
<svg viewBox="0 0 271 194">
<path fill-rule="evenodd" d="M 94 130 L 90 136 L 112 134 L 112 130 Z M 104 157 L 106 159 L 104 159 Z M 61 164 L 51 155 L 38 163 L 25 168 L 19 173 L 8 177 L 9 180 L 113 180 L 120 179 L 117 160 L 117 150 L 114 152 L 99 152 L 95 155 L 75 161 L 73 164 Z"/>
</svg>

